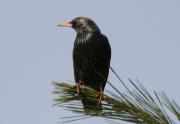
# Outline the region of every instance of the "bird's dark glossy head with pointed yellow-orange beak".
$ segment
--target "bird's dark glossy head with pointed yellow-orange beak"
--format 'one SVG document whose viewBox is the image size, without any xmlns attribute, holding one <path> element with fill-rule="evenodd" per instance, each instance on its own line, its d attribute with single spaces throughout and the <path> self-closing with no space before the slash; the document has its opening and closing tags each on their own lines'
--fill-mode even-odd
<svg viewBox="0 0 180 124">
<path fill-rule="evenodd" d="M 77 33 L 100 32 L 96 23 L 87 17 L 77 17 L 70 22 L 64 22 L 58 26 L 72 27 Z"/>
</svg>

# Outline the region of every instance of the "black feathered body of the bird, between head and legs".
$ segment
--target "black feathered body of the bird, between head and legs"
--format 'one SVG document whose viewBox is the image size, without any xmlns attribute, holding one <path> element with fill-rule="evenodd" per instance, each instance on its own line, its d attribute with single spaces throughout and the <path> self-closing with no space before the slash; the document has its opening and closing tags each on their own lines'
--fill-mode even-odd
<svg viewBox="0 0 180 124">
<path fill-rule="evenodd" d="M 111 48 L 106 36 L 100 32 L 79 33 L 73 49 L 75 81 L 100 91 L 104 90 L 111 58 Z"/>
</svg>

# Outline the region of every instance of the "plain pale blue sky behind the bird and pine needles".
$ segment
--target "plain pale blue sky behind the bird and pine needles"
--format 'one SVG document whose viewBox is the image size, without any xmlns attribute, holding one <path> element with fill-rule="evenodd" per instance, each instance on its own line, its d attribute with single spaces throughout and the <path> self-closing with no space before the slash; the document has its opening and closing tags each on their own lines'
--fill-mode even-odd
<svg viewBox="0 0 180 124">
<path fill-rule="evenodd" d="M 52 107 L 51 81 L 74 80 L 76 33 L 57 24 L 78 16 L 92 18 L 108 37 L 111 66 L 124 80 L 139 78 L 149 91 L 165 91 L 180 103 L 179 5 L 179 0 L 1 0 L 0 123 L 56 124 L 72 115 Z M 112 73 L 109 80 L 121 90 Z M 83 120 L 97 121 L 104 122 Z"/>
</svg>

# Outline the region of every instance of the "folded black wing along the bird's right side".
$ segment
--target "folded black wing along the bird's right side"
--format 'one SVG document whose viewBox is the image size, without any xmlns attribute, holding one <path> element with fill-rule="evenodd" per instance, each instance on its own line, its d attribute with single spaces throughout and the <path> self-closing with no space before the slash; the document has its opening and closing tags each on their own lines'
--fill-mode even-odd
<svg viewBox="0 0 180 124">
<path fill-rule="evenodd" d="M 95 71 L 103 78 L 103 81 L 99 83 L 103 83 L 102 88 L 104 89 L 109 74 L 111 47 L 107 37 L 102 34 L 100 36 L 95 36 L 92 42 L 92 56 L 94 57 L 92 57 L 93 60 L 91 61 L 94 63 Z"/>
</svg>

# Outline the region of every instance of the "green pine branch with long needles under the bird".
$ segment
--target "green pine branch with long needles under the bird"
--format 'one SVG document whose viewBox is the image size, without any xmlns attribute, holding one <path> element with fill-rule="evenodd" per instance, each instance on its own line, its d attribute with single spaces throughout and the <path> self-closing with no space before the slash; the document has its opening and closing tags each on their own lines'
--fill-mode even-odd
<svg viewBox="0 0 180 124">
<path fill-rule="evenodd" d="M 130 84 L 133 86 L 132 90 L 130 90 L 121 79 L 120 81 L 127 92 L 120 92 L 112 83 L 108 82 L 116 93 L 113 91 L 105 93 L 102 111 L 96 111 L 96 109 L 84 110 L 80 102 L 83 94 L 86 94 L 86 97 L 89 99 L 97 101 L 96 91 L 85 86 L 82 93 L 77 94 L 74 85 L 65 82 L 53 82 L 55 86 L 53 93 L 58 94 L 58 98 L 54 100 L 54 105 L 80 114 L 79 116 L 66 118 L 69 120 L 65 122 L 99 116 L 106 119 L 123 120 L 133 123 L 171 124 L 173 121 L 168 116 L 167 109 L 180 121 L 180 107 L 176 102 L 171 101 L 165 93 L 154 92 L 155 98 L 153 98 L 143 85 L 136 85 L 129 79 Z"/>
</svg>

